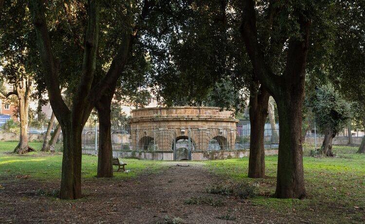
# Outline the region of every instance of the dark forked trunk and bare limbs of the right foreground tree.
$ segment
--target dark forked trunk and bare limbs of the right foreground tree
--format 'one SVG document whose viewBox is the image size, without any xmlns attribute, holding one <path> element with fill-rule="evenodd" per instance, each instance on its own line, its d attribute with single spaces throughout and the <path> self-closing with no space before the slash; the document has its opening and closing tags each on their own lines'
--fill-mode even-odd
<svg viewBox="0 0 365 224">
<path fill-rule="evenodd" d="M 244 16 L 240 31 L 246 51 L 251 59 L 255 75 L 261 85 L 274 97 L 278 108 L 280 135 L 275 197 L 303 198 L 306 190 L 303 171 L 302 104 L 310 21 L 294 9 L 293 14 L 298 18 L 302 38 L 288 39 L 286 65 L 282 74 L 277 75 L 266 63 L 258 42 L 255 1 L 242 0 L 242 5 Z M 270 5 L 269 9 L 276 11 L 273 5 Z"/>
</svg>

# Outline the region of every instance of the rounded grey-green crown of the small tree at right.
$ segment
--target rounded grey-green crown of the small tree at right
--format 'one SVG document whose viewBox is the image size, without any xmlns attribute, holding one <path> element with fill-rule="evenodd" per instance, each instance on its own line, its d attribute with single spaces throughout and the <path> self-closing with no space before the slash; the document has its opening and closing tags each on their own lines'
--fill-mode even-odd
<svg viewBox="0 0 365 224">
<path fill-rule="evenodd" d="M 331 86 L 316 89 L 306 104 L 313 112 L 320 131 L 330 128 L 337 134 L 346 127 L 350 118 L 350 104 Z"/>
</svg>

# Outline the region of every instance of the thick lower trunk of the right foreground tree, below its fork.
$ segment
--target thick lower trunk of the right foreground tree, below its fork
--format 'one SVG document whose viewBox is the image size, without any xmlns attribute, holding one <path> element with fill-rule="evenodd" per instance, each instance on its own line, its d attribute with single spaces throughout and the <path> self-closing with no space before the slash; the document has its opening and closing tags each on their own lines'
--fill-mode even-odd
<svg viewBox="0 0 365 224">
<path fill-rule="evenodd" d="M 279 113 L 279 154 L 277 164 L 277 198 L 303 198 L 306 195 L 303 171 L 302 104 L 303 88 L 275 98 Z"/>
</svg>

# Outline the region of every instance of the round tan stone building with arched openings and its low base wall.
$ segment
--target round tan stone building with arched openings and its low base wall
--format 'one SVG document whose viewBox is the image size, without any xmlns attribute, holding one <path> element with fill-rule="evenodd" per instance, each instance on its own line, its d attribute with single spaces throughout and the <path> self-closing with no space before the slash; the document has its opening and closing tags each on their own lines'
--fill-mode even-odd
<svg viewBox="0 0 365 224">
<path fill-rule="evenodd" d="M 132 111 L 130 146 L 121 156 L 155 160 L 242 157 L 232 111 L 216 107 L 143 108 Z"/>
</svg>

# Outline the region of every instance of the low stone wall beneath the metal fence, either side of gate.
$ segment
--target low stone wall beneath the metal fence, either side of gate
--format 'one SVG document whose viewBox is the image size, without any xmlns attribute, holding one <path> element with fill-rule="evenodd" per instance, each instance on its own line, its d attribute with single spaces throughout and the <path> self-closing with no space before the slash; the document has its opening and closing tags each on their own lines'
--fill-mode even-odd
<svg viewBox="0 0 365 224">
<path fill-rule="evenodd" d="M 93 149 L 83 149 L 83 154 L 95 154 Z M 277 149 L 265 150 L 265 155 L 277 155 Z M 191 160 L 217 160 L 217 159 L 234 159 L 249 156 L 248 149 L 242 150 L 215 150 L 215 151 L 194 151 L 191 153 Z M 171 151 L 152 151 L 152 150 L 113 150 L 113 157 L 134 158 L 143 160 L 164 160 L 173 161 L 174 152 Z"/>
</svg>

